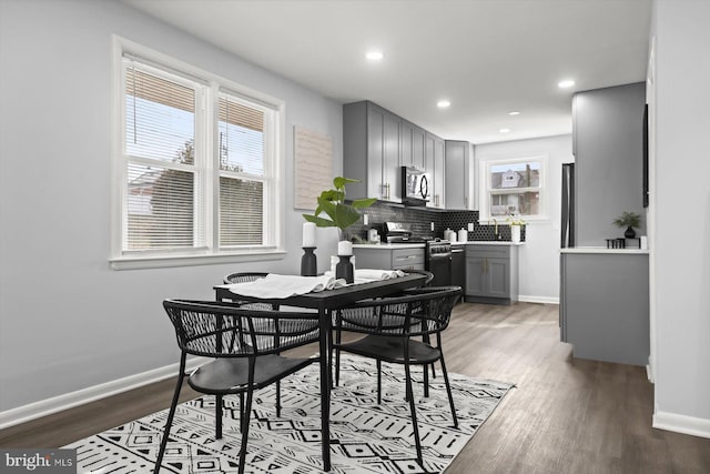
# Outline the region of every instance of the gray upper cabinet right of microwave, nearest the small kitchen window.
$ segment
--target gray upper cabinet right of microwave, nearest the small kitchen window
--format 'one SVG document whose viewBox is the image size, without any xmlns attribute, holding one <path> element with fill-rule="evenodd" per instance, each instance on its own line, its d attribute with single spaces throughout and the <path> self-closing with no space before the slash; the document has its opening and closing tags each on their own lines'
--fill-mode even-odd
<svg viewBox="0 0 710 474">
<path fill-rule="evenodd" d="M 470 209 L 471 144 L 466 141 L 446 140 L 445 188 L 447 209 Z"/>
</svg>

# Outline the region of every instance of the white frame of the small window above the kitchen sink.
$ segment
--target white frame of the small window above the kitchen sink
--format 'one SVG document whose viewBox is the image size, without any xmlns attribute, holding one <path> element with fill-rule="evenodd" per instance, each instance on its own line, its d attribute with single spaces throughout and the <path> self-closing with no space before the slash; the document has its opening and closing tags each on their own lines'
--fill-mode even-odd
<svg viewBox="0 0 710 474">
<path fill-rule="evenodd" d="M 500 158 L 500 157 L 481 157 L 478 162 L 478 222 L 488 224 L 493 216 L 490 215 L 490 168 L 494 165 L 517 164 L 536 161 L 540 163 L 540 213 L 535 215 L 520 215 L 526 223 L 549 221 L 549 186 L 548 186 L 548 155 L 536 154 L 531 157 Z M 519 189 L 518 189 L 519 190 Z M 499 224 L 505 224 L 505 220 L 495 218 Z"/>
</svg>

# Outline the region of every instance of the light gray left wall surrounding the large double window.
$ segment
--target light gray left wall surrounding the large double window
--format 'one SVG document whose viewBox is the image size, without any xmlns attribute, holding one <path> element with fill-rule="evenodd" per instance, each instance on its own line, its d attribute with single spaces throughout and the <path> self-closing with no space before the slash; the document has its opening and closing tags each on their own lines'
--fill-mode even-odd
<svg viewBox="0 0 710 474">
<path fill-rule="evenodd" d="M 110 269 L 114 33 L 285 100 L 283 261 Z M 116 1 L 1 0 L 0 64 L 0 412 L 175 363 L 164 297 L 212 299 L 232 271 L 297 271 L 293 125 L 333 139 L 339 174 L 339 103 Z"/>
</svg>

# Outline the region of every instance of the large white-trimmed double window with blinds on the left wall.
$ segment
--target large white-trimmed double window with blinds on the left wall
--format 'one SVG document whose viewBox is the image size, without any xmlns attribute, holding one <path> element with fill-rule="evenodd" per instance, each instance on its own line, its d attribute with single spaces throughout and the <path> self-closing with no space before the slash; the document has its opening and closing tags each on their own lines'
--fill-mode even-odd
<svg viewBox="0 0 710 474">
<path fill-rule="evenodd" d="M 119 53 L 113 266 L 283 253 L 282 104 L 138 49 Z"/>
</svg>

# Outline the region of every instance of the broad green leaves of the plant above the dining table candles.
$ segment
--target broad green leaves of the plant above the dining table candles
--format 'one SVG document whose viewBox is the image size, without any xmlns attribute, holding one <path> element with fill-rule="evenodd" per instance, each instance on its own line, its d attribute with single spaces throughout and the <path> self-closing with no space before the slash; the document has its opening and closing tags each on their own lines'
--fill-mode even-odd
<svg viewBox="0 0 710 474">
<path fill-rule="evenodd" d="M 377 201 L 376 198 L 363 198 L 353 200 L 349 204 L 346 203 L 345 184 L 356 182 L 359 181 L 336 177 L 333 180 L 334 189 L 323 191 L 317 198 L 318 205 L 315 212 L 303 214 L 303 218 L 318 228 L 337 228 L 338 240 L 345 240 L 345 230 L 359 220 L 358 209 L 369 208 Z M 321 216 L 322 213 L 327 218 Z"/>
</svg>

